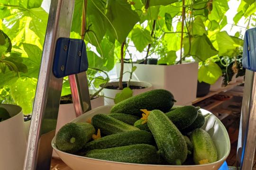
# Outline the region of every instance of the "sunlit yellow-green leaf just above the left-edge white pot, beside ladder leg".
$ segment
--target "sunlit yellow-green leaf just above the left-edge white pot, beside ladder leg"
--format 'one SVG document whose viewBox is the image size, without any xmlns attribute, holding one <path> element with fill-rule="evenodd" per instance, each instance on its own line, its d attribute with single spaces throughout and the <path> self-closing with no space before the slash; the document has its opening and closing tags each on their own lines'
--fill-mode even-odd
<svg viewBox="0 0 256 170">
<path fill-rule="evenodd" d="M 15 84 L 10 85 L 12 98 L 22 107 L 25 115 L 32 113 L 36 87 L 37 79 L 35 78 L 19 78 Z"/>
</svg>

